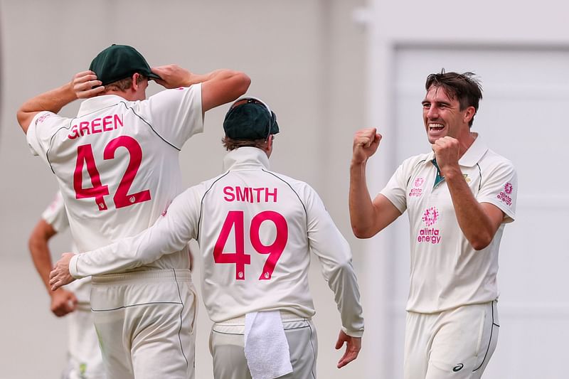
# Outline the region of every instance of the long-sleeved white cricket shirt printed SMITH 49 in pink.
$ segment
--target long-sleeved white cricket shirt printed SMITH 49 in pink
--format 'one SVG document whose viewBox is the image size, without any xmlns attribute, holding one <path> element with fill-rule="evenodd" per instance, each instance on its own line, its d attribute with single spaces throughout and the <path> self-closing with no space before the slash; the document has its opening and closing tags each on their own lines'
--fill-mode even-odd
<svg viewBox="0 0 569 379">
<path fill-rule="evenodd" d="M 202 254 L 203 301 L 212 321 L 277 309 L 312 317 L 312 250 L 334 292 L 344 331 L 361 336 L 351 250 L 316 191 L 268 171 L 267 155 L 255 147 L 230 151 L 223 163 L 225 174 L 181 193 L 149 230 L 73 257 L 73 277 L 147 265 L 195 238 Z"/>
</svg>

